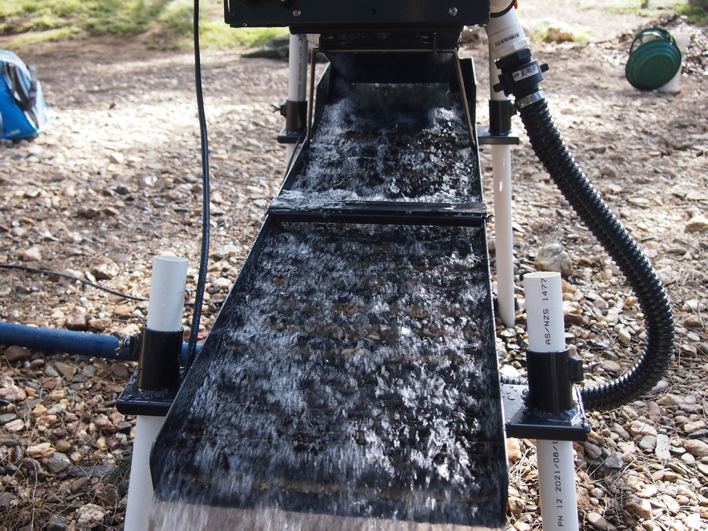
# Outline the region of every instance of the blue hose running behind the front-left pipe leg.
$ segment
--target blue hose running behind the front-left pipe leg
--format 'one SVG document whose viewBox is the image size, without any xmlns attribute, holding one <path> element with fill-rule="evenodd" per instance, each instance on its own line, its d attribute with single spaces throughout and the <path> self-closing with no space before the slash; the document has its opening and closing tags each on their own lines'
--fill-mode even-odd
<svg viewBox="0 0 708 531">
<path fill-rule="evenodd" d="M 128 349 L 119 353 L 118 338 L 102 336 L 98 333 L 74 332 L 69 330 L 43 329 L 38 326 L 0 322 L 0 345 L 18 345 L 32 350 L 63 352 L 108 360 L 135 361 Z M 201 345 L 197 346 L 198 348 Z M 182 344 L 182 360 L 187 354 L 187 343 Z"/>
</svg>

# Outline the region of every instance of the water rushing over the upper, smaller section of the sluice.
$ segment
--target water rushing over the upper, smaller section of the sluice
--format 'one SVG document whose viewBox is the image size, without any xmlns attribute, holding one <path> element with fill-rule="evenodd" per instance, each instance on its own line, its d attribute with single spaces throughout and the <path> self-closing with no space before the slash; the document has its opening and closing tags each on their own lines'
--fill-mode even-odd
<svg viewBox="0 0 708 531">
<path fill-rule="evenodd" d="M 447 84 L 334 84 L 280 200 L 464 202 L 481 199 L 478 159 Z"/>
</svg>

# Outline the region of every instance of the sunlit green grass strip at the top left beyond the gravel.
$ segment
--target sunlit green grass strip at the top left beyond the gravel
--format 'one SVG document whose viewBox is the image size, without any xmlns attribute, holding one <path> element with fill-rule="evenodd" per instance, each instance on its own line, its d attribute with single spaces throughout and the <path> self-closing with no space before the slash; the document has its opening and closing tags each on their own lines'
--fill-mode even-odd
<svg viewBox="0 0 708 531">
<path fill-rule="evenodd" d="M 39 42 L 94 35 L 160 36 L 163 47 L 190 47 L 193 0 L 14 0 L 0 2 L 0 35 L 16 49 Z M 285 28 L 239 29 L 224 23 L 221 0 L 200 2 L 200 44 L 204 47 L 259 45 Z"/>
</svg>

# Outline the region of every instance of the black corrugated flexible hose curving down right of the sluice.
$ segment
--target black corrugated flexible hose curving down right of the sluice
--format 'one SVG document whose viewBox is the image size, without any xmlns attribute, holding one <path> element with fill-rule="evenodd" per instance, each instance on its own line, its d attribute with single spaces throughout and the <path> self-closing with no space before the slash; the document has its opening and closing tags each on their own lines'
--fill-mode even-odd
<svg viewBox="0 0 708 531">
<path fill-rule="evenodd" d="M 668 368 L 674 341 L 668 297 L 632 236 L 607 209 L 568 152 L 545 99 L 524 106 L 519 114 L 539 161 L 578 217 L 622 270 L 644 312 L 646 346 L 634 367 L 612 382 L 582 389 L 586 408 L 614 409 L 649 392 Z"/>
</svg>

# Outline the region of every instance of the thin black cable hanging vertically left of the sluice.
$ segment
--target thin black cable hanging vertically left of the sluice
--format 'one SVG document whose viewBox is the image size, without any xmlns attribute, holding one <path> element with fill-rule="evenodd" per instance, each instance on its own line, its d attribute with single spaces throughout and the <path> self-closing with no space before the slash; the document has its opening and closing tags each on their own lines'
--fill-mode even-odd
<svg viewBox="0 0 708 531">
<path fill-rule="evenodd" d="M 185 361 L 185 374 L 188 372 L 196 357 L 199 323 L 202 318 L 202 301 L 207 282 L 207 262 L 209 260 L 209 145 L 207 142 L 207 120 L 204 115 L 204 98 L 202 96 L 202 63 L 199 53 L 199 0 L 194 0 L 194 77 L 197 93 L 197 110 L 199 113 L 199 133 L 202 149 L 202 249 L 199 263 L 197 290 L 194 297 L 194 311 L 192 312 L 192 327 L 187 346 Z"/>
</svg>

